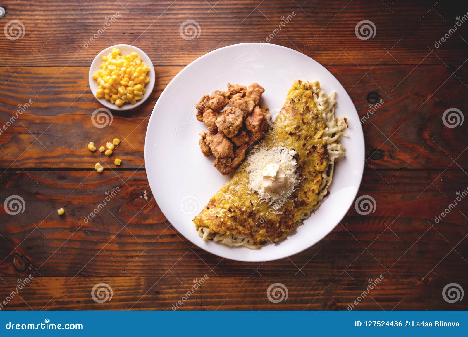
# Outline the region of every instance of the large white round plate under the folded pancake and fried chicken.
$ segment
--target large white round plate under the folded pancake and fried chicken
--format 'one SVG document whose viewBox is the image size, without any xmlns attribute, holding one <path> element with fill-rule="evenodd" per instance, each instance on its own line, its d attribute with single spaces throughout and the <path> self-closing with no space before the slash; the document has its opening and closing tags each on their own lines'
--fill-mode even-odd
<svg viewBox="0 0 468 337">
<path fill-rule="evenodd" d="M 205 94 L 227 90 L 227 82 L 265 88 L 262 105 L 281 108 L 295 80 L 320 81 L 327 94 L 336 91 L 335 116 L 346 116 L 346 157 L 338 159 L 330 194 L 303 225 L 279 244 L 260 249 L 203 241 L 192 219 L 229 180 L 200 151 L 198 133 L 205 124 L 195 118 L 195 104 Z M 359 189 L 364 170 L 364 135 L 351 98 L 322 65 L 298 51 L 274 44 L 241 43 L 214 50 L 185 67 L 154 106 L 145 140 L 146 175 L 154 198 L 168 221 L 185 238 L 223 258 L 259 262 L 299 253 L 325 237 L 341 221 Z"/>
</svg>

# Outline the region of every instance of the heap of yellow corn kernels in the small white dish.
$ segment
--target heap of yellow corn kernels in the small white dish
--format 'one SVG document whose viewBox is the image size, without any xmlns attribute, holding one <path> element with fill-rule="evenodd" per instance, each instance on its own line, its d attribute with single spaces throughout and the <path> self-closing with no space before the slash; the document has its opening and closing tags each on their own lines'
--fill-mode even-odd
<svg viewBox="0 0 468 337">
<path fill-rule="evenodd" d="M 120 49 L 112 49 L 108 55 L 102 56 L 100 70 L 93 74 L 93 79 L 99 84 L 96 97 L 105 98 L 116 106 L 136 104 L 143 98 L 145 84 L 150 82 L 149 70 L 137 52 L 121 55 Z M 133 86 L 137 93 L 129 90 Z"/>
</svg>

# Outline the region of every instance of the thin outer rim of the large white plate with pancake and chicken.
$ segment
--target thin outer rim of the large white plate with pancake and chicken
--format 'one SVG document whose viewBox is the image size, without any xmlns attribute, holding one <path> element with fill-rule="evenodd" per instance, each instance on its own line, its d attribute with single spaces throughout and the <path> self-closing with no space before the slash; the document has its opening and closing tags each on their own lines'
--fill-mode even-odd
<svg viewBox="0 0 468 337">
<path fill-rule="evenodd" d="M 282 48 L 282 49 L 292 50 L 292 51 L 295 52 L 295 53 L 299 53 L 299 54 L 301 54 L 301 55 L 303 55 L 303 56 L 306 56 L 307 58 L 309 58 L 309 59 L 311 59 L 312 61 L 314 61 L 315 63 L 317 63 L 317 64 L 318 64 L 320 67 L 322 67 L 324 70 L 326 70 L 326 71 L 330 74 L 330 76 L 332 76 L 333 78 L 335 78 L 336 82 L 341 86 L 341 89 L 344 90 L 344 92 L 346 93 L 346 95 L 347 95 L 348 98 L 350 99 L 351 103 L 353 103 L 353 101 L 352 101 L 350 95 L 348 94 L 348 91 L 346 91 L 346 89 L 344 89 L 343 84 L 341 84 L 341 82 L 335 77 L 335 75 L 333 75 L 333 74 L 332 74 L 327 68 L 325 68 L 321 63 L 319 63 L 318 61 L 315 61 L 312 57 L 310 57 L 310 56 L 308 56 L 308 55 L 306 55 L 306 54 L 304 54 L 304 53 L 301 53 L 301 52 L 298 51 L 298 50 L 295 50 L 295 49 L 292 49 L 292 48 L 289 48 L 289 47 L 285 47 L 285 46 L 281 46 L 281 45 L 278 45 L 278 44 L 274 44 L 274 43 L 261 43 L 261 42 L 236 43 L 236 44 L 231 44 L 231 45 L 228 45 L 228 46 L 225 46 L 225 47 L 221 47 L 221 48 L 218 48 L 218 49 L 214 49 L 214 50 L 212 50 L 212 51 L 210 51 L 210 52 L 208 52 L 208 53 L 206 53 L 206 54 L 204 54 L 204 55 L 202 55 L 202 56 L 197 57 L 195 60 L 193 60 L 192 62 L 190 62 L 189 64 L 187 64 L 182 70 L 180 70 L 180 71 L 176 74 L 176 76 L 174 76 L 174 77 L 169 81 L 169 83 L 166 85 L 166 87 L 165 87 L 164 90 L 161 92 L 161 95 L 159 96 L 158 100 L 156 101 L 156 103 L 155 103 L 155 105 L 154 105 L 153 111 L 151 112 L 151 116 L 150 116 L 150 118 L 149 118 L 149 120 L 148 120 L 148 125 L 146 126 L 145 146 L 144 146 L 145 173 L 146 173 L 146 179 L 148 180 L 148 185 L 149 185 L 150 189 L 151 189 L 151 182 L 150 182 L 150 177 L 148 176 L 148 173 L 147 173 L 147 172 L 148 172 L 148 168 L 146 167 L 146 154 L 147 154 L 147 151 L 149 151 L 149 149 L 148 149 L 148 146 L 149 146 L 149 145 L 148 145 L 148 134 L 149 134 L 149 133 L 148 133 L 148 129 L 149 129 L 149 126 L 151 125 L 151 121 L 152 121 L 154 118 L 156 118 L 156 117 L 154 117 L 154 115 L 155 115 L 154 112 L 155 112 L 156 108 L 158 107 L 158 105 L 160 104 L 160 102 L 161 102 L 161 97 L 163 96 L 164 92 L 168 89 L 168 87 L 170 86 L 170 84 L 171 84 L 173 81 L 175 81 L 179 76 L 181 76 L 183 70 L 185 70 L 187 67 L 189 67 L 190 64 L 195 63 L 195 62 L 197 62 L 198 60 L 201 60 L 201 59 L 207 57 L 208 55 L 210 55 L 210 54 L 212 54 L 212 53 L 214 53 L 214 52 L 216 52 L 216 51 L 219 51 L 219 50 L 221 50 L 221 49 L 230 49 L 230 48 L 234 48 L 234 47 L 241 46 L 241 45 L 258 46 L 258 47 L 261 47 L 261 48 L 263 48 L 264 45 L 273 45 L 273 46 L 275 46 L 275 47 L 280 47 L 280 48 Z M 318 80 L 318 79 L 317 79 L 317 80 Z M 356 114 L 357 114 L 357 116 L 358 116 L 358 119 L 360 120 L 358 111 L 356 110 L 356 107 L 354 106 L 354 104 L 353 104 L 353 107 L 352 107 L 352 108 L 354 109 L 354 112 L 356 112 Z M 353 197 L 352 200 L 355 200 L 355 199 L 356 199 L 356 197 L 357 197 L 357 195 L 358 195 L 358 192 L 359 192 L 359 190 L 360 190 L 361 183 L 362 183 L 362 178 L 363 178 L 363 176 L 364 176 L 365 161 L 366 161 L 366 160 L 365 160 L 365 154 L 366 154 L 366 140 L 365 140 L 365 137 L 364 137 L 364 132 L 363 132 L 363 130 L 362 130 L 362 127 L 359 128 L 359 130 L 360 130 L 360 132 L 362 133 L 362 143 L 361 143 L 361 147 L 362 147 L 362 149 L 364 150 L 364 151 L 363 151 L 363 152 L 364 152 L 364 157 L 362 158 L 362 165 L 361 165 L 361 166 L 362 166 L 362 170 L 361 170 L 360 175 L 359 175 L 359 178 L 358 178 L 358 179 L 359 179 L 359 182 L 356 184 L 357 189 L 356 189 L 356 192 L 355 192 L 354 197 Z M 154 194 L 153 194 L 153 197 L 154 197 Z M 156 197 L 154 197 L 154 201 L 157 203 Z M 199 242 L 194 242 L 194 241 L 192 241 L 191 239 L 185 237 L 182 233 L 181 233 L 181 235 L 183 235 L 183 237 L 184 237 L 185 239 L 187 239 L 188 241 L 190 241 L 190 242 L 191 242 L 192 244 L 194 244 L 195 246 L 199 247 L 200 249 L 203 249 L 205 252 L 211 253 L 211 254 L 213 254 L 213 255 L 215 255 L 215 256 L 219 256 L 219 257 L 221 257 L 221 258 L 223 258 L 223 259 L 234 260 L 234 261 L 239 261 L 239 262 L 246 262 L 246 263 L 252 263 L 252 262 L 268 262 L 268 261 L 281 260 L 281 259 L 289 258 L 289 257 L 291 257 L 292 255 L 296 255 L 296 254 L 302 253 L 302 252 L 304 252 L 305 250 L 309 249 L 310 247 L 316 245 L 318 242 L 322 241 L 322 239 L 325 238 L 330 232 L 332 232 L 333 229 L 335 229 L 335 227 L 343 220 L 343 218 L 346 216 L 347 212 L 351 209 L 352 204 L 353 204 L 353 203 L 350 204 L 350 206 L 349 206 L 349 207 L 347 208 L 347 210 L 344 212 L 343 217 L 340 218 L 340 220 L 330 229 L 329 232 L 327 232 L 327 233 L 325 233 L 325 234 L 323 234 L 323 235 L 320 235 L 319 239 L 317 239 L 314 243 L 311 243 L 309 246 L 304 247 L 303 249 L 300 249 L 300 250 L 298 250 L 298 251 L 292 251 L 291 253 L 287 253 L 286 255 L 284 255 L 284 256 L 282 256 L 282 257 L 279 257 L 279 258 L 277 258 L 277 257 L 267 258 L 267 259 L 264 259 L 264 258 L 262 258 L 262 259 L 254 258 L 254 259 L 245 260 L 245 259 L 240 259 L 240 258 L 235 258 L 235 257 L 227 257 L 227 256 L 224 256 L 224 255 L 221 255 L 221 254 L 218 254 L 218 253 L 213 253 L 213 252 L 211 252 L 211 251 L 205 249 L 205 247 L 201 246 L 201 245 L 199 244 Z M 159 208 L 159 204 L 158 204 L 158 208 Z M 175 226 L 169 221 L 169 219 L 166 217 L 166 215 L 165 215 L 164 212 L 161 210 L 161 208 L 159 208 L 159 209 L 160 209 L 161 213 L 164 215 L 164 217 L 168 220 L 169 224 L 170 224 L 171 226 L 175 227 Z M 176 228 L 176 230 L 177 230 L 177 228 Z M 201 238 L 200 238 L 200 239 L 201 239 Z M 234 247 L 234 249 L 235 249 L 235 247 Z M 261 248 L 259 248 L 259 249 L 261 249 Z"/>
</svg>

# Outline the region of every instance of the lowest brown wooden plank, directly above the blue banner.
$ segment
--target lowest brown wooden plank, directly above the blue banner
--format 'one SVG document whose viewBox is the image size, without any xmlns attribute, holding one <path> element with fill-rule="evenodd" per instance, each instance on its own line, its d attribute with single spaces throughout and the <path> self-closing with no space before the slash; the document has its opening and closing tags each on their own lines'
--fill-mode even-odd
<svg viewBox="0 0 468 337">
<path fill-rule="evenodd" d="M 448 303 L 442 289 L 459 279 L 431 277 L 419 282 L 416 278 L 370 275 L 333 278 L 216 277 L 195 275 L 193 278 L 165 277 L 33 277 L 16 293 L 14 277 L 5 277 L 0 298 L 12 297 L 6 310 L 466 310 L 465 301 Z M 192 288 L 197 281 L 198 288 Z M 193 280 L 192 280 L 193 279 Z M 23 280 L 23 279 L 22 279 Z M 372 283 L 369 283 L 372 280 Z M 3 283 L 3 282 L 2 282 Z M 92 289 L 99 283 L 112 289 L 110 300 L 98 303 Z M 281 283 L 287 298 L 271 302 L 268 288 Z M 374 287 L 367 288 L 370 284 Z M 460 282 L 466 289 L 466 281 Z M 279 289 L 275 286 L 272 289 Z M 270 292 L 271 295 L 272 291 Z M 14 292 L 14 296 L 12 293 Z M 365 292 L 363 295 L 363 292 Z M 279 300 L 282 298 L 271 298 Z M 106 295 L 102 293 L 102 300 Z M 187 298 L 187 300 L 184 300 Z M 100 299 L 97 298 L 96 299 Z M 183 304 L 176 304 L 181 301 Z M 356 301 L 358 304 L 353 304 Z"/>
</svg>

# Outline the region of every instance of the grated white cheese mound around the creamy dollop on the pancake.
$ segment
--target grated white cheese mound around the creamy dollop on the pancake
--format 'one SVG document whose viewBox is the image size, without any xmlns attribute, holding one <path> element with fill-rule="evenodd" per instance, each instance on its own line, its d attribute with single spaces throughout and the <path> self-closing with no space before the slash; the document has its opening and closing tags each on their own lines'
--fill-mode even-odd
<svg viewBox="0 0 468 337">
<path fill-rule="evenodd" d="M 296 151 L 288 150 L 284 146 L 266 148 L 257 145 L 252 149 L 247 159 L 246 168 L 249 174 L 249 189 L 255 191 L 263 202 L 269 203 L 275 211 L 278 211 L 285 203 L 285 197 L 289 197 L 294 187 L 299 183 L 296 174 Z M 276 188 L 270 189 L 263 183 L 263 168 L 271 163 L 276 163 L 285 174 L 285 182 Z"/>
</svg>

